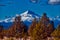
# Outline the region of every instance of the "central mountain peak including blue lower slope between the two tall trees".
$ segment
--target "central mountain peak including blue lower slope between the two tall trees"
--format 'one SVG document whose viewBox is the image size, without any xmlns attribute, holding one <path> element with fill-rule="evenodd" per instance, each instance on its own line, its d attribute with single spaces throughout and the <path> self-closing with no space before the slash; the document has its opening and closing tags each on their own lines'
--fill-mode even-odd
<svg viewBox="0 0 60 40">
<path fill-rule="evenodd" d="M 27 26 L 29 26 L 32 23 L 34 18 L 36 18 L 37 20 L 39 20 L 40 18 L 40 15 L 37 15 L 32 11 L 25 11 L 24 13 L 21 13 L 20 16 L 21 16 L 21 21 L 23 21 Z"/>
</svg>

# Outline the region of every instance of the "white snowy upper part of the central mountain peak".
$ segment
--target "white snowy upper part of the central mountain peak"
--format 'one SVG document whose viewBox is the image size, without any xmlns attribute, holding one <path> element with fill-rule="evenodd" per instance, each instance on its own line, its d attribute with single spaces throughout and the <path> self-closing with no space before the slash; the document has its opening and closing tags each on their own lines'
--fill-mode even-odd
<svg viewBox="0 0 60 40">
<path fill-rule="evenodd" d="M 27 20 L 29 22 L 33 21 L 34 18 L 39 19 L 39 17 L 40 17 L 39 15 L 35 14 L 32 11 L 26 11 L 26 12 L 20 14 L 20 16 L 21 16 L 21 20 L 22 21 L 26 21 Z"/>
</svg>

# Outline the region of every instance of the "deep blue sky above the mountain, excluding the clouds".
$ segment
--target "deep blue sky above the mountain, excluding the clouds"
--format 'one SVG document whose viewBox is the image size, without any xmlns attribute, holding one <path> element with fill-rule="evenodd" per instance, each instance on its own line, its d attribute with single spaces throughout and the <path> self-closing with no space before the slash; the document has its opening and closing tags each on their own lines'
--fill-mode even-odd
<svg viewBox="0 0 60 40">
<path fill-rule="evenodd" d="M 0 20 L 26 10 L 33 11 L 38 15 L 46 12 L 49 17 L 60 16 L 60 3 L 48 4 L 48 1 L 38 0 L 37 3 L 32 3 L 30 0 L 0 0 Z"/>
</svg>

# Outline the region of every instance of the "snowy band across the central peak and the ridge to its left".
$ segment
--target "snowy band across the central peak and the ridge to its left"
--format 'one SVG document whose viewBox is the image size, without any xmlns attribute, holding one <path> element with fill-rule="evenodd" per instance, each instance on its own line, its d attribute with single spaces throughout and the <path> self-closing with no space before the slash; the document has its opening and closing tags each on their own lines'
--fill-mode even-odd
<svg viewBox="0 0 60 40">
<path fill-rule="evenodd" d="M 39 17 L 40 17 L 39 15 L 35 14 L 32 11 L 25 11 L 21 14 L 16 14 L 16 16 L 21 16 L 21 21 L 28 21 L 28 22 L 32 22 L 34 18 L 39 19 Z M 6 23 L 14 22 L 15 17 L 0 20 L 0 22 L 6 22 Z"/>
</svg>

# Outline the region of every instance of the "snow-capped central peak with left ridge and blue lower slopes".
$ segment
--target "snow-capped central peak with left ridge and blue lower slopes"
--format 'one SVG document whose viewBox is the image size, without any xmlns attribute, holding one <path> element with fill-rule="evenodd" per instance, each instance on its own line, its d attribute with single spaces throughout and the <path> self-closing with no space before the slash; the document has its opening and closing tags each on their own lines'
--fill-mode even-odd
<svg viewBox="0 0 60 40">
<path fill-rule="evenodd" d="M 39 20 L 39 18 L 40 18 L 40 15 L 37 15 L 32 11 L 25 11 L 21 14 L 16 14 L 16 16 L 21 16 L 21 21 L 23 21 L 27 26 L 29 26 L 32 23 L 34 18 L 36 18 L 37 20 Z M 15 17 L 0 20 L 0 24 L 2 24 L 3 26 L 8 27 L 8 26 L 13 24 Z"/>
</svg>

